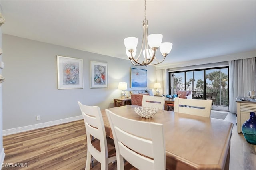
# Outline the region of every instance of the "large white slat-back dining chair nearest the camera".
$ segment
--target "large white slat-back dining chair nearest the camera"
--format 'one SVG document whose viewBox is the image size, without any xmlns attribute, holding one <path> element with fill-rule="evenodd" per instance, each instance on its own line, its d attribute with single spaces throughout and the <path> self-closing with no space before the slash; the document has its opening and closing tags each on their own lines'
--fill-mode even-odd
<svg viewBox="0 0 256 170">
<path fill-rule="evenodd" d="M 163 125 L 127 119 L 106 109 L 116 146 L 117 169 L 124 159 L 137 169 L 166 169 Z"/>
</svg>

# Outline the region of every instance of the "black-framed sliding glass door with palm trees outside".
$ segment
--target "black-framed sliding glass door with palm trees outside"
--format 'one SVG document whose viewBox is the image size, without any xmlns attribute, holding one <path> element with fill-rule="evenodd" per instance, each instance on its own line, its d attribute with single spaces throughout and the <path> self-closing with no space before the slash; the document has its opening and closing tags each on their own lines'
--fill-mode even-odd
<svg viewBox="0 0 256 170">
<path fill-rule="evenodd" d="M 228 106 L 228 67 L 169 73 L 169 94 L 192 91 L 192 99 L 212 99 L 214 105 Z"/>
</svg>

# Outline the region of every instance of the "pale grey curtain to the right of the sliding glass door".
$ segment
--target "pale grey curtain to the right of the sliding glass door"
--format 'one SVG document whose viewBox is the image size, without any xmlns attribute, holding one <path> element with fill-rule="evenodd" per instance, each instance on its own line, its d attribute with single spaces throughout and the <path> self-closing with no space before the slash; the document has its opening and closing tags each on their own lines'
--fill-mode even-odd
<svg viewBox="0 0 256 170">
<path fill-rule="evenodd" d="M 236 113 L 236 97 L 248 96 L 256 90 L 256 57 L 228 61 L 229 65 L 229 111 Z"/>
</svg>

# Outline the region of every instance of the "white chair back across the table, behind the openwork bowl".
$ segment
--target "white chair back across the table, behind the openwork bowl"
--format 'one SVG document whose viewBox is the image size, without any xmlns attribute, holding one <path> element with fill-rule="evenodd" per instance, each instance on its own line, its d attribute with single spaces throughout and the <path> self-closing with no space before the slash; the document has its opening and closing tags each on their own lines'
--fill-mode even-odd
<svg viewBox="0 0 256 170">
<path fill-rule="evenodd" d="M 164 103 L 165 103 L 166 97 L 164 96 L 147 96 L 143 95 L 142 98 L 142 106 L 143 107 L 154 107 L 157 109 L 164 110 Z"/>
</svg>

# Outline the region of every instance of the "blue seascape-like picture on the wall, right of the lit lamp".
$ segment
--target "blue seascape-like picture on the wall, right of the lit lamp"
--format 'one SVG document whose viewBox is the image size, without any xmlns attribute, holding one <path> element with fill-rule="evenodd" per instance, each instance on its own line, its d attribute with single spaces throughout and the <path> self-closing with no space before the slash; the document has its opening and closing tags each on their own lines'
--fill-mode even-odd
<svg viewBox="0 0 256 170">
<path fill-rule="evenodd" d="M 130 70 L 131 88 L 148 87 L 148 72 L 145 69 L 132 68 Z"/>
</svg>

